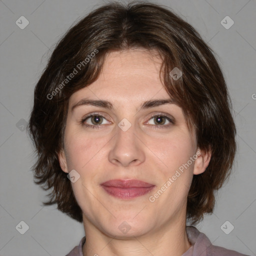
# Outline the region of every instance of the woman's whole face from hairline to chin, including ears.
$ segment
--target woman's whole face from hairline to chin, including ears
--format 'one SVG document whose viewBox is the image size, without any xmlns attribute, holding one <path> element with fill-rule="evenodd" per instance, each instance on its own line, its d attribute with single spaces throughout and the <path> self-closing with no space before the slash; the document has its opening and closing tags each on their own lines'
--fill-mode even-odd
<svg viewBox="0 0 256 256">
<path fill-rule="evenodd" d="M 160 65 L 146 50 L 109 53 L 98 79 L 69 99 L 59 161 L 75 170 L 85 232 L 138 236 L 185 223 L 192 176 L 207 161 L 181 107 L 158 101 L 170 99 Z"/>
</svg>

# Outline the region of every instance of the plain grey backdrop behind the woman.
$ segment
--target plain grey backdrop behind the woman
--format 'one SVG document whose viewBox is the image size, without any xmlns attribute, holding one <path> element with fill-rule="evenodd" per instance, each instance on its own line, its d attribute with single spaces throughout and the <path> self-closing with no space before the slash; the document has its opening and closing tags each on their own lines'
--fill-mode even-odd
<svg viewBox="0 0 256 256">
<path fill-rule="evenodd" d="M 56 205 L 42 206 L 46 192 L 33 183 L 33 148 L 22 129 L 34 86 L 55 43 L 78 18 L 103 2 L 0 0 L 0 255 L 65 255 L 84 235 L 82 224 Z M 238 131 L 233 174 L 218 191 L 213 214 L 196 227 L 215 245 L 256 255 L 256 2 L 154 2 L 171 7 L 191 23 L 218 54 L 233 102 Z M 234 21 L 229 29 L 220 23 L 226 15 Z M 29 21 L 24 29 L 15 23 L 20 16 Z M 29 226 L 24 234 L 15 228 L 21 220 Z M 220 228 L 226 220 L 234 226 L 229 234 Z"/>
</svg>

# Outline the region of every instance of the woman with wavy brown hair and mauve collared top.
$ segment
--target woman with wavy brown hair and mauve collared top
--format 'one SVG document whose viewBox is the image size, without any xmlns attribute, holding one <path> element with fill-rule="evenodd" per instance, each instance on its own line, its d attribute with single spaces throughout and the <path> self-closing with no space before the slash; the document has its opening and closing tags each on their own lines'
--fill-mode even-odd
<svg viewBox="0 0 256 256">
<path fill-rule="evenodd" d="M 166 8 L 110 3 L 70 28 L 29 131 L 45 204 L 83 222 L 67 255 L 243 255 L 186 226 L 213 210 L 235 125 L 212 50 Z"/>
</svg>

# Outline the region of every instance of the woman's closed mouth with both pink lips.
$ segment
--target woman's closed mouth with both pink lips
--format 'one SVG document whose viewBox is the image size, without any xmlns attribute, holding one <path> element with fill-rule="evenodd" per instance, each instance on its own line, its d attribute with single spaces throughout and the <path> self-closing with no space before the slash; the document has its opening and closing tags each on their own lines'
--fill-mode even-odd
<svg viewBox="0 0 256 256">
<path fill-rule="evenodd" d="M 121 199 L 132 199 L 149 193 L 155 185 L 137 179 L 111 179 L 100 184 L 110 195 Z"/>
</svg>

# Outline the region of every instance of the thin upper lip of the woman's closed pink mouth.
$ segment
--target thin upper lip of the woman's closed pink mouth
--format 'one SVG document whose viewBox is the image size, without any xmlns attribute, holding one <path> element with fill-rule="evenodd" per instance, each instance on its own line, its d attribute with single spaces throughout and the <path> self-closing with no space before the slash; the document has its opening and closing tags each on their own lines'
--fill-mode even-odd
<svg viewBox="0 0 256 256">
<path fill-rule="evenodd" d="M 114 187 L 151 187 L 153 184 L 138 179 L 110 179 L 100 185 Z"/>
</svg>

